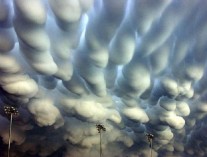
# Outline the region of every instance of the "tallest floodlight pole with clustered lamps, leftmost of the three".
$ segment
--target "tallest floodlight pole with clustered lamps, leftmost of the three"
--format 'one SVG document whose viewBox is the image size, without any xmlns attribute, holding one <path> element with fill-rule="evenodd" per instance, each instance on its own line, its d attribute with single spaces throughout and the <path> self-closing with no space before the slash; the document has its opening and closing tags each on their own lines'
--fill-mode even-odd
<svg viewBox="0 0 207 157">
<path fill-rule="evenodd" d="M 13 107 L 13 106 L 4 106 L 4 112 L 6 113 L 6 115 L 10 116 L 10 124 L 9 124 L 9 144 L 8 144 L 8 157 L 9 157 L 9 153 L 10 153 L 10 144 L 11 144 L 11 130 L 12 130 L 12 118 L 13 115 L 17 116 L 19 115 L 18 110 Z"/>
</svg>

